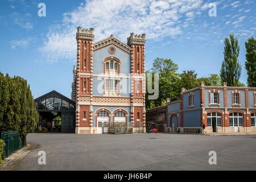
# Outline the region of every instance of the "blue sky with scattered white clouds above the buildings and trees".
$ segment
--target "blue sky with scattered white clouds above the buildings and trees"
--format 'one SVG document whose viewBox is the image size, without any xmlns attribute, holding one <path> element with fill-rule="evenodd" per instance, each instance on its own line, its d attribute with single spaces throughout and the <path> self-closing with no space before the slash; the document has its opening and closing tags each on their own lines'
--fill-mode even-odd
<svg viewBox="0 0 256 182">
<path fill-rule="evenodd" d="M 46 4 L 46 17 L 38 4 Z M 209 3 L 217 16 L 209 16 Z M 223 39 L 240 42 L 241 80 L 246 83 L 245 41 L 256 31 L 256 2 L 247 1 L 79 1 L 0 2 L 0 72 L 22 76 L 34 97 L 57 90 L 70 97 L 76 64 L 76 27 L 95 29 L 95 41 L 114 34 L 126 43 L 130 32 L 146 34 L 146 69 L 156 57 L 172 59 L 179 72 L 219 73 Z"/>
</svg>

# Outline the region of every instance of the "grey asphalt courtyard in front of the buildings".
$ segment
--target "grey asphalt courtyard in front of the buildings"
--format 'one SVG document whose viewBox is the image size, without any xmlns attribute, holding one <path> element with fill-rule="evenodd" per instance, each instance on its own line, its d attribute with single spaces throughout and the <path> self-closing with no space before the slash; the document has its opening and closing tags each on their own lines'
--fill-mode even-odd
<svg viewBox="0 0 256 182">
<path fill-rule="evenodd" d="M 17 170 L 256 170 L 256 136 L 28 134 Z M 38 152 L 46 152 L 46 165 Z M 210 165 L 209 151 L 217 164 Z"/>
</svg>

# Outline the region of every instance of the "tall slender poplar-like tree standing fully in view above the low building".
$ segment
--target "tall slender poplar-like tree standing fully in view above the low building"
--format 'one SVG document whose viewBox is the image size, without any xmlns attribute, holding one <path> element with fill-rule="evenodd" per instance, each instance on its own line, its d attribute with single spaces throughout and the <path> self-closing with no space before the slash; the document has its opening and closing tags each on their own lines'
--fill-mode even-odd
<svg viewBox="0 0 256 182">
<path fill-rule="evenodd" d="M 239 86 L 242 67 L 239 63 L 238 56 L 240 47 L 238 39 L 233 34 L 224 40 L 224 60 L 221 64 L 221 80 L 227 82 L 228 86 Z"/>
</svg>

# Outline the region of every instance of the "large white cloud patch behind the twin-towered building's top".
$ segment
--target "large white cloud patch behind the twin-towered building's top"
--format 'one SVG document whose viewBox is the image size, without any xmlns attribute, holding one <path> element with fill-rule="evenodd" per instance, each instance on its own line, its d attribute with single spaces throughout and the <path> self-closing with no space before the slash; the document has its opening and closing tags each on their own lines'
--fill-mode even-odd
<svg viewBox="0 0 256 182">
<path fill-rule="evenodd" d="M 114 34 L 126 42 L 130 32 L 146 34 L 147 40 L 181 35 L 192 22 L 184 16 L 200 15 L 202 0 L 90 0 L 65 13 L 63 21 L 50 28 L 40 51 L 49 61 L 76 59 L 76 27 L 94 28 L 94 42 Z M 195 13 L 193 13 L 195 12 Z"/>
</svg>

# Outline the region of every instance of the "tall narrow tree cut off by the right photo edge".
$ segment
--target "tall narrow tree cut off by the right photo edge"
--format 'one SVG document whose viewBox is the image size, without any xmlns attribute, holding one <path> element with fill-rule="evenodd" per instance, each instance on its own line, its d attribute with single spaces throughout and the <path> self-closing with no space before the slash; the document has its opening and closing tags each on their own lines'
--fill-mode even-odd
<svg viewBox="0 0 256 182">
<path fill-rule="evenodd" d="M 245 69 L 247 70 L 247 84 L 248 86 L 256 87 L 256 40 L 251 37 L 248 42 L 245 42 L 246 61 Z"/>
</svg>

